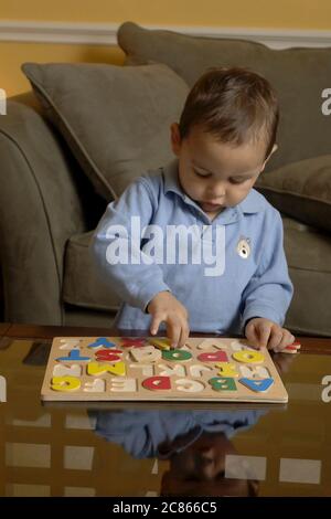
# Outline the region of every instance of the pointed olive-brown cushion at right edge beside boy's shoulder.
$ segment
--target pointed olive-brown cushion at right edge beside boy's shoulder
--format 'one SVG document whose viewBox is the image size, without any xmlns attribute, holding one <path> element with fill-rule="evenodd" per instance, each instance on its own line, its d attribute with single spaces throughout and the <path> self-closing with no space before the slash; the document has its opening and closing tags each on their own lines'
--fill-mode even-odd
<svg viewBox="0 0 331 519">
<path fill-rule="evenodd" d="M 331 231 L 331 155 L 263 173 L 255 186 L 282 213 Z"/>
</svg>

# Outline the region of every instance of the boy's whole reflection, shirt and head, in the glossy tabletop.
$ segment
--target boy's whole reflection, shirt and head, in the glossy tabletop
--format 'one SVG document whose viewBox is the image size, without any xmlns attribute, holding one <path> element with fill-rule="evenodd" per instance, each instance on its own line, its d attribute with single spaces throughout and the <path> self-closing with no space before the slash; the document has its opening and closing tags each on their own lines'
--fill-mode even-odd
<svg viewBox="0 0 331 519">
<path fill-rule="evenodd" d="M 238 456 L 232 437 L 264 410 L 90 412 L 96 433 L 135 458 L 167 459 L 163 496 L 254 496 L 265 464 Z"/>
</svg>

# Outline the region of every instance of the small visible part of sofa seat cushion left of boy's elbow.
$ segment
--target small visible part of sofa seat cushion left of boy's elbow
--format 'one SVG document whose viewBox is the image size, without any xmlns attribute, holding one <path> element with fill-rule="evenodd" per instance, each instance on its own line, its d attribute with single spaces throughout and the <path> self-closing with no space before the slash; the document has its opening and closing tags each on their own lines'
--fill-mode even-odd
<svg viewBox="0 0 331 519">
<path fill-rule="evenodd" d="M 90 262 L 88 244 L 93 232 L 75 234 L 67 242 L 62 298 L 82 308 L 117 310 L 120 299 L 100 282 Z"/>
</svg>

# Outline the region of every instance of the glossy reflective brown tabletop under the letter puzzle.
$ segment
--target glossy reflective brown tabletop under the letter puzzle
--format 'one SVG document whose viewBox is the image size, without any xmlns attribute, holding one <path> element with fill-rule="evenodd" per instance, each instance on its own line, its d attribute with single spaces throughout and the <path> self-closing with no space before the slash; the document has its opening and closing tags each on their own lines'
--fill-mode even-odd
<svg viewBox="0 0 331 519">
<path fill-rule="evenodd" d="M 331 496 L 331 354 L 274 356 L 286 405 L 42 403 L 51 342 L 0 341 L 1 496 Z"/>
</svg>

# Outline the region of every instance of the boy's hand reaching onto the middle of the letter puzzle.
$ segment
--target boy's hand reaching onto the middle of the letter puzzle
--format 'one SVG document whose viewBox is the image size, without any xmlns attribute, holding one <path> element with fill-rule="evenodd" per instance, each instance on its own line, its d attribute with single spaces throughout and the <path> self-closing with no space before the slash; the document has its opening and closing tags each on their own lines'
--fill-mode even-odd
<svg viewBox="0 0 331 519">
<path fill-rule="evenodd" d="M 184 346 L 190 335 L 188 310 L 170 292 L 159 292 L 149 303 L 147 311 L 152 315 L 151 335 L 157 333 L 164 321 L 172 348 Z"/>
</svg>

